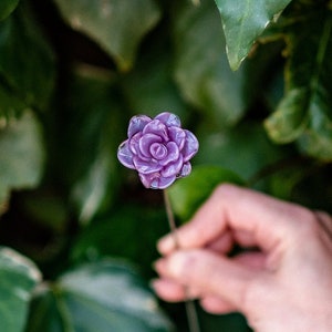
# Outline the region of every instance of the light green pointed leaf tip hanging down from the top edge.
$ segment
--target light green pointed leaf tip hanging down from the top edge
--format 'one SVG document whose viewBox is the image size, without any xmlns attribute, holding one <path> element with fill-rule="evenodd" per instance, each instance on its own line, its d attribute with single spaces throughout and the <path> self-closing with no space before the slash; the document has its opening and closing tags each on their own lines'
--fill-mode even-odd
<svg viewBox="0 0 332 332">
<path fill-rule="evenodd" d="M 229 64 L 237 70 L 253 42 L 291 0 L 215 0 L 219 9 Z"/>
</svg>

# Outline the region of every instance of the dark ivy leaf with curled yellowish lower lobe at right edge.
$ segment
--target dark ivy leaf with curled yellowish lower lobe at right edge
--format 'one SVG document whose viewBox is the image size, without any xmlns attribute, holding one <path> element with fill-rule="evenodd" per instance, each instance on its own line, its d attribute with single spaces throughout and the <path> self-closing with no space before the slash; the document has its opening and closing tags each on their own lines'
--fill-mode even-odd
<svg viewBox="0 0 332 332">
<path fill-rule="evenodd" d="M 331 160 L 332 12 L 324 1 L 303 2 L 292 20 L 284 31 L 287 91 L 266 127 L 277 143 L 300 138 L 304 153 Z"/>
</svg>

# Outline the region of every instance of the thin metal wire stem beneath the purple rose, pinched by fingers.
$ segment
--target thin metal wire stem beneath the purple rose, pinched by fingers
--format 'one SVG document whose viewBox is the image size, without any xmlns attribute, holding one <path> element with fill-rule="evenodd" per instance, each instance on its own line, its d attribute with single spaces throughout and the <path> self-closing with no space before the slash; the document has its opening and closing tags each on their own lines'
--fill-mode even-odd
<svg viewBox="0 0 332 332">
<path fill-rule="evenodd" d="M 174 218 L 169 196 L 168 196 L 168 193 L 167 193 L 166 189 L 164 189 L 163 193 L 164 193 L 164 203 L 165 203 L 168 225 L 169 225 L 169 228 L 170 228 L 170 234 L 173 236 L 175 247 L 177 249 L 179 249 L 180 246 L 179 246 L 177 228 L 176 228 L 176 224 L 175 224 L 175 218 Z M 200 332 L 195 302 L 189 299 L 188 289 L 186 287 L 185 287 L 185 295 L 186 295 L 185 307 L 186 307 L 186 313 L 187 313 L 189 331 L 190 332 Z"/>
</svg>

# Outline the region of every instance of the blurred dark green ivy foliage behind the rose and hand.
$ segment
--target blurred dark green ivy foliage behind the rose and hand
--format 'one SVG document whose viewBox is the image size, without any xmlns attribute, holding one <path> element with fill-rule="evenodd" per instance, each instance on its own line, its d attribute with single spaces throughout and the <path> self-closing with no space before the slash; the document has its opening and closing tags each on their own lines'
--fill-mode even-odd
<svg viewBox="0 0 332 332">
<path fill-rule="evenodd" d="M 135 114 L 200 142 L 179 221 L 220 181 L 332 212 L 331 29 L 331 0 L 1 0 L 0 330 L 187 331 L 148 288 L 163 197 L 116 160 Z"/>
</svg>

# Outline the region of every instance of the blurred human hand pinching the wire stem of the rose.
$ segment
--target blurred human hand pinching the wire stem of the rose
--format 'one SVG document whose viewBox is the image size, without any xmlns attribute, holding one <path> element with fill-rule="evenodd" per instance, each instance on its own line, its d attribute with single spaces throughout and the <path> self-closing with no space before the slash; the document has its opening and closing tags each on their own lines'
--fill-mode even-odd
<svg viewBox="0 0 332 332">
<path fill-rule="evenodd" d="M 232 185 L 158 242 L 157 294 L 198 298 L 212 313 L 242 312 L 255 331 L 332 331 L 332 220 Z M 229 257 L 235 245 L 242 253 Z M 185 291 L 186 289 L 186 291 Z"/>
</svg>

